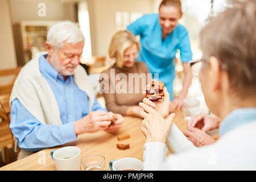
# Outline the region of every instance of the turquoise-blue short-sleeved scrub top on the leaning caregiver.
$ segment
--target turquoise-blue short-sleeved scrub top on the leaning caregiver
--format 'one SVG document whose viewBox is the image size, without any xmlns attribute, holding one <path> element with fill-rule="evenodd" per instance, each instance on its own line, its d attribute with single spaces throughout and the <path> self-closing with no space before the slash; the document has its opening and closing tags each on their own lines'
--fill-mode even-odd
<svg viewBox="0 0 256 182">
<path fill-rule="evenodd" d="M 183 63 L 192 60 L 192 51 L 187 29 L 177 24 L 174 30 L 162 40 L 162 27 L 159 14 L 146 14 L 127 26 L 127 30 L 141 36 L 141 51 L 137 61 L 146 63 L 149 71 L 159 73 L 159 80 L 164 82 L 170 100 L 173 100 L 172 83 L 175 78 L 175 55 L 180 50 Z"/>
</svg>

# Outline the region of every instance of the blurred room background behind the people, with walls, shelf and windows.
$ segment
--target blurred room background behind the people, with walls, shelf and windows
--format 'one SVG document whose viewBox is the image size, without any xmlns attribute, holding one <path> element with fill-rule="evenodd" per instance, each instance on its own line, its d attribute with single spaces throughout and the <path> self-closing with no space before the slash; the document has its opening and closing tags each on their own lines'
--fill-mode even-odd
<svg viewBox="0 0 256 182">
<path fill-rule="evenodd" d="M 104 98 L 97 93 L 99 73 L 108 69 L 113 60 L 108 59 L 108 47 L 112 35 L 147 13 L 158 13 L 161 0 L 1 0 L 0 1 L 0 71 L 18 70 L 45 51 L 44 43 L 48 28 L 53 24 L 71 20 L 76 22 L 85 36 L 84 53 L 81 65 L 89 74 L 98 101 L 104 105 Z M 181 0 L 183 17 L 180 23 L 189 31 L 193 60 L 200 59 L 200 30 L 209 18 L 230 6 L 231 0 Z M 179 51 L 175 61 L 176 78 L 174 81 L 174 96 L 178 96 L 183 85 L 183 67 L 179 60 Z M 6 75 L 0 73 L 0 85 L 13 84 L 16 71 Z M 205 107 L 203 94 L 197 73 L 193 73 L 193 81 L 189 88 L 188 98 L 197 98 L 200 106 Z M 1 100 L 1 93 L 0 93 Z M 4 99 L 2 99 L 4 101 Z M 8 103 L 8 101 L 7 101 Z M 3 110 L 3 105 L 0 109 Z M 7 104 L 8 105 L 8 104 Z M 4 110 L 8 113 L 8 109 Z M 8 117 L 8 115 L 7 115 Z M 1 119 L 0 119 L 1 120 Z M 1 126 L 0 126 L 1 130 Z M 7 129 L 8 130 L 8 129 Z M 0 133 L 4 133 L 1 130 Z M 3 138 L 6 141 L 11 138 Z M 11 139 L 10 139 L 11 140 Z M 12 146 L 9 145 L 5 154 Z M 3 150 L 1 150 L 3 151 Z M 2 152 L 3 153 L 3 152 Z M 3 163 L 9 163 L 10 158 L 4 157 Z M 10 159 L 15 160 L 14 158 Z"/>
</svg>

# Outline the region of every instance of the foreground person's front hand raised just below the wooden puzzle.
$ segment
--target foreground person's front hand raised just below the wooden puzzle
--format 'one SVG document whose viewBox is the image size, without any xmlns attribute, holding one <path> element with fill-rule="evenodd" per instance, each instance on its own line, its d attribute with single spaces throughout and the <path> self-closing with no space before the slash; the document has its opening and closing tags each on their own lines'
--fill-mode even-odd
<svg viewBox="0 0 256 182">
<path fill-rule="evenodd" d="M 144 110 L 141 111 L 141 116 L 144 118 L 141 131 L 146 137 L 146 142 L 166 143 L 166 138 L 170 133 L 175 114 L 172 113 L 164 119 L 162 115 L 151 106 L 148 106 L 143 102 L 140 102 L 139 106 Z"/>
</svg>

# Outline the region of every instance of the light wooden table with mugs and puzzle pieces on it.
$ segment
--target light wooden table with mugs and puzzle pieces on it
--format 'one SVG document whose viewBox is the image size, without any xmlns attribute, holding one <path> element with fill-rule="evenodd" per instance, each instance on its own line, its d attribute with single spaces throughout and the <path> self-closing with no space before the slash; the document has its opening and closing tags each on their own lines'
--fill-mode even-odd
<svg viewBox="0 0 256 182">
<path fill-rule="evenodd" d="M 184 132 L 187 129 L 187 121 L 185 121 L 182 111 L 175 111 L 175 113 L 174 123 Z M 92 134 L 86 133 L 79 135 L 76 141 L 67 143 L 64 146 L 79 147 L 81 149 L 81 158 L 90 154 L 105 156 L 106 170 L 109 170 L 109 162 L 112 159 L 132 157 L 143 160 L 143 145 L 146 139 L 141 132 L 141 122 L 142 119 L 140 118 L 125 117 L 122 127 L 115 134 L 110 134 L 106 131 L 99 131 Z M 117 140 L 118 135 L 126 133 L 130 134 L 130 139 Z M 118 150 L 116 147 L 117 143 L 129 143 L 130 149 Z M 53 149 L 60 147 L 63 146 L 47 148 L 36 152 L 26 158 L 3 166 L 0 170 L 56 170 L 50 153 Z"/>
</svg>

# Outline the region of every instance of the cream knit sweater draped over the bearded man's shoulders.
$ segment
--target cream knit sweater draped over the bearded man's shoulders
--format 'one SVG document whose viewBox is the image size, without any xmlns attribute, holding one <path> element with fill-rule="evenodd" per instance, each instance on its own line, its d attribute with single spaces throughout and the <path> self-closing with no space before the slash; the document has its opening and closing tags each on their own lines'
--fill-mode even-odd
<svg viewBox="0 0 256 182">
<path fill-rule="evenodd" d="M 55 96 L 48 82 L 40 73 L 39 58 L 35 57 L 21 69 L 14 83 L 9 104 L 11 106 L 11 102 L 17 98 L 38 121 L 45 125 L 62 125 Z M 78 88 L 89 97 L 90 112 L 94 102 L 94 93 L 85 69 L 78 65 L 73 77 Z M 15 138 L 14 141 L 16 151 Z M 20 150 L 19 158 L 29 154 L 31 152 Z"/>
</svg>

